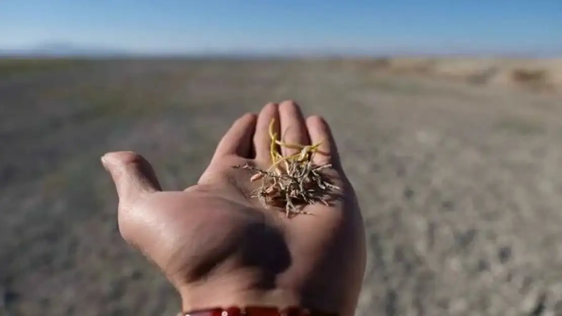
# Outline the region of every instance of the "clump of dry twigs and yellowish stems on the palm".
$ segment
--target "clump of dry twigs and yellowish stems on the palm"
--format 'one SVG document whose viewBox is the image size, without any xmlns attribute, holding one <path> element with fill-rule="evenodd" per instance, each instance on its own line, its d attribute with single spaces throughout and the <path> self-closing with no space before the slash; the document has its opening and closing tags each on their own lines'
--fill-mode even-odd
<svg viewBox="0 0 562 316">
<path fill-rule="evenodd" d="M 340 188 L 333 185 L 322 172 L 332 167 L 331 164 L 318 165 L 312 162 L 315 154 L 322 154 L 318 150 L 320 143 L 314 145 L 284 143 L 277 139 L 277 134 L 273 131 L 273 123 L 272 120 L 269 126 L 271 167 L 262 170 L 249 164 L 234 166 L 253 172 L 250 177 L 251 182 L 261 180 L 259 187 L 252 191 L 252 198 L 258 198 L 266 208 L 283 208 L 287 217 L 309 214 L 302 210 L 306 205 L 315 203 L 329 205 L 331 191 Z M 300 152 L 283 156 L 279 153 L 279 146 L 300 149 Z"/>
</svg>

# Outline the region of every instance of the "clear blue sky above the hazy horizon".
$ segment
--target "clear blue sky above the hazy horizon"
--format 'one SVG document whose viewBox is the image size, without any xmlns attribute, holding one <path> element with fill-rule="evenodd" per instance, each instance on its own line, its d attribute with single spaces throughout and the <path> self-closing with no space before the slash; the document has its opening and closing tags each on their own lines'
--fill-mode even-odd
<svg viewBox="0 0 562 316">
<path fill-rule="evenodd" d="M 0 49 L 562 53 L 562 0 L 0 0 Z"/>
</svg>

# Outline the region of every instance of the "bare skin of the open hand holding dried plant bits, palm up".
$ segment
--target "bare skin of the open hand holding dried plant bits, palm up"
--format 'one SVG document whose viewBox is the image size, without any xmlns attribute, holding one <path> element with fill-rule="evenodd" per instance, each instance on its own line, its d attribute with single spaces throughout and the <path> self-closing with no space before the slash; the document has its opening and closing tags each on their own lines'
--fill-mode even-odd
<svg viewBox="0 0 562 316">
<path fill-rule="evenodd" d="M 342 188 L 329 207 L 285 218 L 250 198 L 247 170 L 271 166 L 272 118 L 287 143 L 322 141 L 315 163 Z M 282 131 L 282 133 L 280 133 Z M 298 150 L 297 150 L 298 151 Z M 294 149 L 282 149 L 292 154 Z M 302 306 L 353 315 L 365 272 L 365 231 L 357 198 L 339 162 L 328 124 L 306 120 L 292 101 L 267 104 L 238 118 L 217 145 L 196 185 L 162 191 L 150 164 L 133 152 L 103 155 L 119 195 L 123 238 L 155 263 L 189 310 L 216 306 Z"/>
</svg>

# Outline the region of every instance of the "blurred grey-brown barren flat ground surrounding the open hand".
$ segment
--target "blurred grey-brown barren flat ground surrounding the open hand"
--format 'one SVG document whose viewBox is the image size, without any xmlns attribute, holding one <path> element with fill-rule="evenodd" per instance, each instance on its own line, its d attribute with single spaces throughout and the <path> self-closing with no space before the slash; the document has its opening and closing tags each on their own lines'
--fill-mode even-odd
<svg viewBox="0 0 562 316">
<path fill-rule="evenodd" d="M 562 98 L 380 65 L 0 61 L 0 315 L 178 312 L 99 157 L 135 150 L 182 189 L 234 118 L 283 99 L 327 118 L 359 194 L 357 315 L 562 315 Z"/>
</svg>

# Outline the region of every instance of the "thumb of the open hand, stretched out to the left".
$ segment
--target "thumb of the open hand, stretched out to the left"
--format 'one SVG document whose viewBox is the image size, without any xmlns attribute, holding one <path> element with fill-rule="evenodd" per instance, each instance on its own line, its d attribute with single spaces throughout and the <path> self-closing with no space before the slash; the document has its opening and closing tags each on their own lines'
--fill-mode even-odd
<svg viewBox="0 0 562 316">
<path fill-rule="evenodd" d="M 162 190 L 152 166 L 139 154 L 112 152 L 103 155 L 101 161 L 115 182 L 122 205 L 132 204 L 143 195 Z"/>
</svg>

